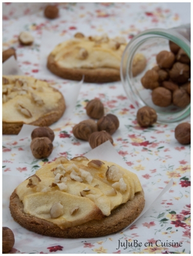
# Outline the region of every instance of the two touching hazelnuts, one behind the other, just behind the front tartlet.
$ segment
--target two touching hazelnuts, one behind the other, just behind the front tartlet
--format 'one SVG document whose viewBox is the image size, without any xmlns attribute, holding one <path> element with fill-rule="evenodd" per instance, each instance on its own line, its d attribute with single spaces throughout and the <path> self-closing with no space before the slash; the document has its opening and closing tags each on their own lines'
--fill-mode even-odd
<svg viewBox="0 0 193 256">
<path fill-rule="evenodd" d="M 47 126 L 37 127 L 31 133 L 31 152 L 37 158 L 49 157 L 53 150 L 54 132 Z"/>
</svg>

